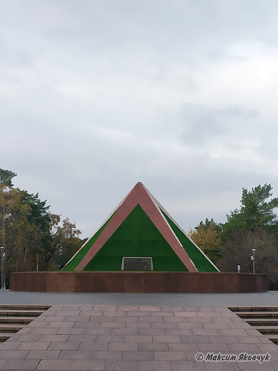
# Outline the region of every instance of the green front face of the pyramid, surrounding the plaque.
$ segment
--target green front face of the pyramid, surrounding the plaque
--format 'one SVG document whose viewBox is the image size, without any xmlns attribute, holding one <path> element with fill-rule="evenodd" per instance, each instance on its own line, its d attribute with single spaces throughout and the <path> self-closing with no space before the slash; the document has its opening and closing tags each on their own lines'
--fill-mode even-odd
<svg viewBox="0 0 278 371">
<path fill-rule="evenodd" d="M 188 271 L 138 204 L 85 266 L 85 271 L 119 271 L 123 257 L 153 258 L 154 271 Z"/>
</svg>

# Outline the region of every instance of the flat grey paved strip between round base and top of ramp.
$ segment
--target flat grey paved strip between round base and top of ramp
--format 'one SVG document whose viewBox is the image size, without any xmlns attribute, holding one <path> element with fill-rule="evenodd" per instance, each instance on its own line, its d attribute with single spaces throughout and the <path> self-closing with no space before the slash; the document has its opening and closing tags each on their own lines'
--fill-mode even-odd
<svg viewBox="0 0 278 371">
<path fill-rule="evenodd" d="M 26 293 L 0 290 L 0 304 L 276 305 L 278 291 L 251 294 Z"/>
</svg>

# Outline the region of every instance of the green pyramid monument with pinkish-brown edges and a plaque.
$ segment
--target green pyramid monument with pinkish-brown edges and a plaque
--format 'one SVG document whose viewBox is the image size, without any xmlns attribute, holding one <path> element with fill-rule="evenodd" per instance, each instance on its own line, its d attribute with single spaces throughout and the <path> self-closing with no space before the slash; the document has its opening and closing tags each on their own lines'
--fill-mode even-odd
<svg viewBox="0 0 278 371">
<path fill-rule="evenodd" d="M 121 270 L 219 272 L 141 182 L 62 269 Z"/>
</svg>

